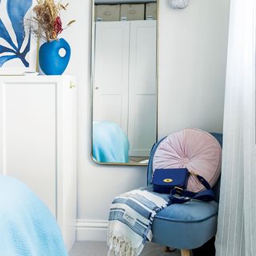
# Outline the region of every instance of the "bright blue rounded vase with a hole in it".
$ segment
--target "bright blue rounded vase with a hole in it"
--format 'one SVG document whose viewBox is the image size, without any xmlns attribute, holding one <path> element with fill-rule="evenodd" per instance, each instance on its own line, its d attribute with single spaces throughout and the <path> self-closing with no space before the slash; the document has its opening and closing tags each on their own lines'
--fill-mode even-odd
<svg viewBox="0 0 256 256">
<path fill-rule="evenodd" d="M 66 51 L 65 56 L 59 54 L 59 50 Z M 45 42 L 39 49 L 39 65 L 44 74 L 63 74 L 70 62 L 71 49 L 68 42 L 61 38 L 52 42 Z"/>
</svg>

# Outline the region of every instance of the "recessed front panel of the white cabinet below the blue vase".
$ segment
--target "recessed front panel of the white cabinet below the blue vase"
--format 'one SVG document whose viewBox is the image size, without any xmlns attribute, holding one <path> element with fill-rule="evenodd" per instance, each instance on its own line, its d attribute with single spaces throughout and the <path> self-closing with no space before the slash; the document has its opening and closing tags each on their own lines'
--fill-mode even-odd
<svg viewBox="0 0 256 256">
<path fill-rule="evenodd" d="M 0 83 L 0 172 L 34 190 L 55 217 L 56 86 Z"/>
</svg>

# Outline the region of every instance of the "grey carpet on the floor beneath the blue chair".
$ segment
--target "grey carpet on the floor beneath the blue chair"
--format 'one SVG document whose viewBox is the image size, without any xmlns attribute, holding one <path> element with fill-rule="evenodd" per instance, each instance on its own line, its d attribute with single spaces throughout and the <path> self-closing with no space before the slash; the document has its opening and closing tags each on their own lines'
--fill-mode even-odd
<svg viewBox="0 0 256 256">
<path fill-rule="evenodd" d="M 106 242 L 76 242 L 69 256 L 106 256 Z M 148 242 L 141 256 L 180 256 L 180 251 L 166 253 L 163 246 Z"/>
</svg>

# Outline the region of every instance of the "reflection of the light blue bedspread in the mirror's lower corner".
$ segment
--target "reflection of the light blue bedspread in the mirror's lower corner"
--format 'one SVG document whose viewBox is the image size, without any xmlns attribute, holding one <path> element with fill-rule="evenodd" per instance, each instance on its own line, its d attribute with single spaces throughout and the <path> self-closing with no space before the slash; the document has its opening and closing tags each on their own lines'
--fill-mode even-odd
<svg viewBox="0 0 256 256">
<path fill-rule="evenodd" d="M 129 141 L 114 122 L 94 122 L 93 156 L 98 162 L 129 162 Z"/>
</svg>

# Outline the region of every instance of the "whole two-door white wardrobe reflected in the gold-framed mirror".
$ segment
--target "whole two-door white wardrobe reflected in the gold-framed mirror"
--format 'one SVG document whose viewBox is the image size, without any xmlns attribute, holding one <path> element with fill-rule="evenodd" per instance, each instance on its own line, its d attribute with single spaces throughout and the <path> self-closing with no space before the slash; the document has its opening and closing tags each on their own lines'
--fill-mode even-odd
<svg viewBox="0 0 256 256">
<path fill-rule="evenodd" d="M 156 139 L 156 24 L 96 22 L 94 121 L 122 127 L 130 156 L 148 156 Z"/>
</svg>

